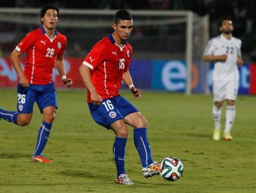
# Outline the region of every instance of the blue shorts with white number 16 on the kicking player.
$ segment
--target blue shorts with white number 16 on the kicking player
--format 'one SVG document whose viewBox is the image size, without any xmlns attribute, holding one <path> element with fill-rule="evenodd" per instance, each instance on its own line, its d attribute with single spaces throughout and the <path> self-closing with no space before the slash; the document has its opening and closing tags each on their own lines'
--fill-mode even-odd
<svg viewBox="0 0 256 193">
<path fill-rule="evenodd" d="M 104 99 L 100 105 L 93 105 L 93 103 L 88 103 L 88 105 L 94 121 L 108 129 L 113 122 L 124 119 L 128 114 L 138 112 L 138 109 L 122 96 Z"/>
</svg>

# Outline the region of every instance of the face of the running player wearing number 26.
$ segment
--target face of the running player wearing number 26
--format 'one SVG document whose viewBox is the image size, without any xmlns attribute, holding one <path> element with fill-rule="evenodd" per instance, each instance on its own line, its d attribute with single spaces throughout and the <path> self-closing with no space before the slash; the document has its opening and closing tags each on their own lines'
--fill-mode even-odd
<svg viewBox="0 0 256 193">
<path fill-rule="evenodd" d="M 49 30 L 54 29 L 58 22 L 57 11 L 52 9 L 46 10 L 46 13 L 44 14 L 44 17 L 41 18 L 41 21 Z"/>
</svg>

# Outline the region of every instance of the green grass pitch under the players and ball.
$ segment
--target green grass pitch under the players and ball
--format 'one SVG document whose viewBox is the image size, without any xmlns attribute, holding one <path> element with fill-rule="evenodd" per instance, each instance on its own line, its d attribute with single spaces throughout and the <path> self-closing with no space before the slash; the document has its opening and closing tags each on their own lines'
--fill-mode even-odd
<svg viewBox="0 0 256 193">
<path fill-rule="evenodd" d="M 0 105 L 16 109 L 16 90 L 0 89 Z M 114 183 L 113 132 L 96 125 L 84 92 L 57 90 L 59 109 L 44 154 L 53 163 L 31 163 L 42 115 L 22 128 L 0 121 L 0 192 L 255 192 L 255 96 L 239 96 L 233 141 L 212 140 L 212 96 L 144 92 L 131 99 L 148 121 L 154 160 L 176 156 L 183 162 L 181 179 L 143 177 L 129 128 L 126 170 L 134 185 Z M 222 111 L 224 125 L 226 105 Z"/>
</svg>

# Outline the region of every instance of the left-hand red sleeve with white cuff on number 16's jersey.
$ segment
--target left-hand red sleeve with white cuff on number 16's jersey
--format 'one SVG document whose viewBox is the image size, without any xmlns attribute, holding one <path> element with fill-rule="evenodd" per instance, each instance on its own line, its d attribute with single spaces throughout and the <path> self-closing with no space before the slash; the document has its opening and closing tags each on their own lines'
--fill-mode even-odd
<svg viewBox="0 0 256 193">
<path fill-rule="evenodd" d="M 102 43 L 97 43 L 85 57 L 83 64 L 94 70 L 104 60 L 106 60 L 106 46 Z"/>
</svg>

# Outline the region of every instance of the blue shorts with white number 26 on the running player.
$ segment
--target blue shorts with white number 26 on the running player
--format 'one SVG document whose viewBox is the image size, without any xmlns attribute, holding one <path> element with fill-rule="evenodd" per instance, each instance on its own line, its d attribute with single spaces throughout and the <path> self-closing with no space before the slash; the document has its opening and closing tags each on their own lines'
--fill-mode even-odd
<svg viewBox="0 0 256 193">
<path fill-rule="evenodd" d="M 19 114 L 33 112 L 33 105 L 37 102 L 40 112 L 48 106 L 57 108 L 57 96 L 53 83 L 46 85 L 33 85 L 23 87 L 21 84 L 17 87 L 17 111 Z"/>
</svg>

